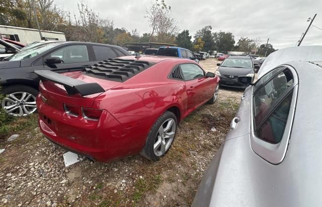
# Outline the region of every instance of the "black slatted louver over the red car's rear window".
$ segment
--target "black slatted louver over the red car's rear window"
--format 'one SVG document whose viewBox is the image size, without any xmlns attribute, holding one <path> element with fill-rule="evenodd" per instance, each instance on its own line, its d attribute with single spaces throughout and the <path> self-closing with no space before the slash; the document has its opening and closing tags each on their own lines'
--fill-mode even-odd
<svg viewBox="0 0 322 207">
<path fill-rule="evenodd" d="M 87 76 L 124 82 L 146 70 L 154 63 L 133 59 L 110 58 L 84 69 Z"/>
</svg>

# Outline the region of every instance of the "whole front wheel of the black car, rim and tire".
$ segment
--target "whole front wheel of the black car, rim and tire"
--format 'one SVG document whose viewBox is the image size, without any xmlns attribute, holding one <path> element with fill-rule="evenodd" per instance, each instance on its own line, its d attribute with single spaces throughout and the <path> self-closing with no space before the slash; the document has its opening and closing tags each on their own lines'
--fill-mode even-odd
<svg viewBox="0 0 322 207">
<path fill-rule="evenodd" d="M 37 112 L 36 97 L 38 91 L 29 86 L 8 86 L 1 91 L 5 94 L 2 108 L 13 116 L 27 116 Z"/>
</svg>

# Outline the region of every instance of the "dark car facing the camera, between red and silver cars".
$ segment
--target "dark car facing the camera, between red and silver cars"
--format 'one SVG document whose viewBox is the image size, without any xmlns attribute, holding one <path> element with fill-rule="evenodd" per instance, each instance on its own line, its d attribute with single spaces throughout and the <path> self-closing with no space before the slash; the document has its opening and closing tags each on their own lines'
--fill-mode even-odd
<svg viewBox="0 0 322 207">
<path fill-rule="evenodd" d="M 219 66 L 215 74 L 220 77 L 221 86 L 245 89 L 248 85 L 239 83 L 239 76 L 248 76 L 254 79 L 253 60 L 249 56 L 229 56 Z"/>
</svg>

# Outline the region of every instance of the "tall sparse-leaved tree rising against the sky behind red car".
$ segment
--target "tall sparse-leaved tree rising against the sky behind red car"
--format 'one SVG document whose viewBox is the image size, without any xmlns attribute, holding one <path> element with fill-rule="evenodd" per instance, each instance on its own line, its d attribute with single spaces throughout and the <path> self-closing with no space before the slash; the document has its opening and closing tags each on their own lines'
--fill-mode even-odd
<svg viewBox="0 0 322 207">
<path fill-rule="evenodd" d="M 158 42 L 173 42 L 178 33 L 177 21 L 171 17 L 171 7 L 162 0 L 152 0 L 151 6 L 145 11 L 145 16 L 151 29 L 149 41 L 156 34 Z"/>
</svg>

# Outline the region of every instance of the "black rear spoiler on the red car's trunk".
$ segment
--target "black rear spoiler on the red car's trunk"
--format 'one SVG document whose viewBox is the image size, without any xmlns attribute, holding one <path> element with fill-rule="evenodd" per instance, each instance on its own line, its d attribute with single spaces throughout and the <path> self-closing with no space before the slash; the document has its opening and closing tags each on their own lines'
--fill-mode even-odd
<svg viewBox="0 0 322 207">
<path fill-rule="evenodd" d="M 86 83 L 49 70 L 34 71 L 42 81 L 52 81 L 63 85 L 68 95 L 81 94 L 87 96 L 96 93 L 103 93 L 105 90 L 98 83 Z"/>
</svg>

